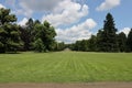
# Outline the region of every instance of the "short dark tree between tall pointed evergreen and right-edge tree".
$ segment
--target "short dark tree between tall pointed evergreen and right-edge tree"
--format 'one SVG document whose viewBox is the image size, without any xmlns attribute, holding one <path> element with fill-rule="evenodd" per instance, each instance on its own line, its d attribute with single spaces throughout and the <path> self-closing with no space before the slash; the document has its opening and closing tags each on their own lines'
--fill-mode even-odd
<svg viewBox="0 0 132 88">
<path fill-rule="evenodd" d="M 127 35 L 121 32 L 118 34 L 118 45 L 120 52 L 125 52 L 127 48 Z"/>
</svg>

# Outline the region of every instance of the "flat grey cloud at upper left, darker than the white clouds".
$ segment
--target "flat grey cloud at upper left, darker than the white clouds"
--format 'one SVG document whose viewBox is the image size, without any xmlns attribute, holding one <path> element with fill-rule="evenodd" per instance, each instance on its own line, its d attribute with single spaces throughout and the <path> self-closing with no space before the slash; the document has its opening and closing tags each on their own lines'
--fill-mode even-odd
<svg viewBox="0 0 132 88">
<path fill-rule="evenodd" d="M 20 0 L 16 13 L 31 16 L 33 12 L 51 12 L 63 0 Z"/>
</svg>

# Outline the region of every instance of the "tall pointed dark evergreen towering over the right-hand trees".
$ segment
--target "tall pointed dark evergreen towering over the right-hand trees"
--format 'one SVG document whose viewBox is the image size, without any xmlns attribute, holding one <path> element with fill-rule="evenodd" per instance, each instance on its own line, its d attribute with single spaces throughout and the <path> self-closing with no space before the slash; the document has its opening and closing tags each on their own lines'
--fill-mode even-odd
<svg viewBox="0 0 132 88">
<path fill-rule="evenodd" d="M 118 52 L 118 40 L 117 40 L 117 29 L 114 26 L 114 21 L 112 14 L 108 13 L 105 20 L 105 25 L 100 35 L 101 52 Z M 99 41 L 98 41 L 99 42 Z"/>
</svg>

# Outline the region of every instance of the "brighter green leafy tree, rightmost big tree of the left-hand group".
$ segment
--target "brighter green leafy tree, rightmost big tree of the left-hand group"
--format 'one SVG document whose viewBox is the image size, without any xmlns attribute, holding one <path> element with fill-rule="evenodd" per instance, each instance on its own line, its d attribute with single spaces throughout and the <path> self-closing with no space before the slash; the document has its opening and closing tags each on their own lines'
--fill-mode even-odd
<svg viewBox="0 0 132 88">
<path fill-rule="evenodd" d="M 47 21 L 44 21 L 43 24 L 35 24 L 34 28 L 34 42 L 37 38 L 41 38 L 44 46 L 45 52 L 53 51 L 55 48 L 55 36 L 56 32 L 53 26 Z"/>
</svg>

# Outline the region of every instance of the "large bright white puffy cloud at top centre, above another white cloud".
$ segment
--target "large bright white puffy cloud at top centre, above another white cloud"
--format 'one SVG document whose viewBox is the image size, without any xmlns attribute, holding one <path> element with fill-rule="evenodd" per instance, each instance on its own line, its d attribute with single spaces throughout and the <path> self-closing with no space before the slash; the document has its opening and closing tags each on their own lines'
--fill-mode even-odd
<svg viewBox="0 0 132 88">
<path fill-rule="evenodd" d="M 88 6 L 64 0 L 53 10 L 53 13 L 44 15 L 42 21 L 47 20 L 53 25 L 72 24 L 88 14 Z"/>
</svg>

